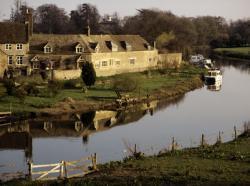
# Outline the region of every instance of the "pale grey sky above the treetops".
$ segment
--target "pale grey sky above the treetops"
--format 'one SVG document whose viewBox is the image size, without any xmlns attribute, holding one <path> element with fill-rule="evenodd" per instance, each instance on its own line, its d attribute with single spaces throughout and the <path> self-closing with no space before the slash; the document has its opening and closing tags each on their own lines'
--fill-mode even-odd
<svg viewBox="0 0 250 186">
<path fill-rule="evenodd" d="M 24 0 L 23 0 L 24 1 Z M 0 0 L 0 20 L 9 18 L 14 0 Z M 250 0 L 26 0 L 29 6 L 36 8 L 52 3 L 67 12 L 76 9 L 82 3 L 96 5 L 100 14 L 118 12 L 120 16 L 134 15 L 136 9 L 158 8 L 170 10 L 179 16 L 222 16 L 227 20 L 250 18 Z"/>
</svg>

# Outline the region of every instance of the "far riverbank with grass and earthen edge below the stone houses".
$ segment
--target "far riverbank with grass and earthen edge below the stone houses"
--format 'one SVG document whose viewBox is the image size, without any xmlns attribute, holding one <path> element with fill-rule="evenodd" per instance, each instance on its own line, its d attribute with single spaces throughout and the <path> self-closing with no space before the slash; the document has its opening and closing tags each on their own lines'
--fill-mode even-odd
<svg viewBox="0 0 250 186">
<path fill-rule="evenodd" d="M 124 92 L 123 95 L 133 100 L 133 104 L 154 99 L 172 100 L 203 86 L 200 80 L 202 72 L 202 69 L 194 66 L 182 65 L 179 69 L 152 70 L 101 77 L 85 93 L 81 88 L 72 88 L 73 86 L 71 86 L 63 88 L 54 97 L 26 96 L 24 102 L 20 102 L 16 97 L 8 96 L 3 86 L 0 86 L 0 111 L 9 111 L 11 107 L 14 113 L 57 115 L 98 109 L 115 109 L 118 97 L 113 86 L 117 79 L 135 85 L 133 89 Z M 75 82 L 79 84 L 79 80 Z"/>
</svg>

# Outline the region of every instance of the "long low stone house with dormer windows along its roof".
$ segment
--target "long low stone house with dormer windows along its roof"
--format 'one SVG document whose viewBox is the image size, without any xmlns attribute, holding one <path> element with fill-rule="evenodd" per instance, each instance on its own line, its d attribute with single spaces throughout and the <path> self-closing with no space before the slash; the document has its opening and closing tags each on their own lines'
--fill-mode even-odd
<svg viewBox="0 0 250 186">
<path fill-rule="evenodd" d="M 158 51 L 139 35 L 33 34 L 31 72 L 53 71 L 56 79 L 80 76 L 82 63 L 93 63 L 97 76 L 154 68 Z"/>
</svg>

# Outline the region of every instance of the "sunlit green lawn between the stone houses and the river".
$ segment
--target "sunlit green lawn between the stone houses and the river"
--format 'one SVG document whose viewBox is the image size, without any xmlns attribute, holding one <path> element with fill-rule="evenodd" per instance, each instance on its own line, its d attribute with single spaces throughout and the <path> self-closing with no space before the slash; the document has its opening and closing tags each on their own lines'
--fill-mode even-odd
<svg viewBox="0 0 250 186">
<path fill-rule="evenodd" d="M 81 105 L 99 105 L 100 103 L 112 102 L 117 98 L 113 85 L 117 79 L 127 80 L 129 83 L 135 83 L 133 90 L 124 92 L 130 97 L 145 97 L 147 94 L 157 95 L 161 90 L 165 96 L 178 91 L 188 91 L 185 84 L 195 81 L 202 73 L 202 70 L 193 66 L 183 65 L 180 69 L 169 69 L 164 71 L 153 70 L 141 73 L 121 74 L 111 77 L 100 77 L 96 84 L 86 93 L 81 88 L 63 88 L 53 97 L 26 96 L 24 102 L 14 96 L 8 96 L 3 85 L 0 84 L 0 111 L 8 111 L 10 107 L 13 112 L 39 112 L 43 108 L 54 108 L 59 102 L 67 98 L 81 101 Z M 79 83 L 80 80 L 76 80 Z M 131 82 L 130 82 L 131 81 Z M 63 83 L 63 82 L 62 82 Z M 179 86 L 179 89 L 177 87 Z M 195 86 L 195 85 L 193 85 Z M 200 86 L 200 85 L 199 85 Z M 197 85 L 198 87 L 198 85 Z M 195 87 L 191 87 L 193 89 Z M 170 93 L 170 94 L 167 94 Z M 62 105 L 58 105 L 62 107 Z"/>
</svg>

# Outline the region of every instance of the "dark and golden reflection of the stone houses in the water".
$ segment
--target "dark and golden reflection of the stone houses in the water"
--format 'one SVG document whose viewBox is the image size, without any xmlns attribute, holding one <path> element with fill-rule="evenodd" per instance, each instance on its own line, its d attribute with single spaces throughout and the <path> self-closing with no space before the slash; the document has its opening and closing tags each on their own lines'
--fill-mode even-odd
<svg viewBox="0 0 250 186">
<path fill-rule="evenodd" d="M 0 150 L 23 150 L 26 159 L 32 158 L 34 138 L 81 137 L 87 144 L 89 136 L 115 126 L 138 121 L 146 114 L 153 115 L 158 101 L 117 111 L 102 110 L 18 121 L 0 126 Z"/>
</svg>

